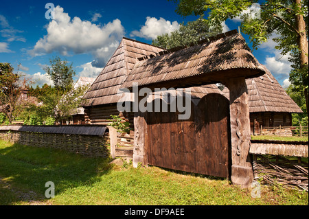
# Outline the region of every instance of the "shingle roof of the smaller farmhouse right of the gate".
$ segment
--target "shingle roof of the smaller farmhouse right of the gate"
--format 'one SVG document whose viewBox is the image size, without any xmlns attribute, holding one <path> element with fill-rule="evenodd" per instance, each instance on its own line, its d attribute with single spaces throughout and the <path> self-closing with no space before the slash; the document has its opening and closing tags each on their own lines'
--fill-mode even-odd
<svg viewBox="0 0 309 219">
<path fill-rule="evenodd" d="M 266 67 L 264 68 L 266 69 Z M 263 76 L 247 79 L 246 84 L 249 94 L 250 113 L 303 113 L 268 69 L 266 69 Z M 222 92 L 229 99 L 229 89 L 225 87 Z"/>
</svg>

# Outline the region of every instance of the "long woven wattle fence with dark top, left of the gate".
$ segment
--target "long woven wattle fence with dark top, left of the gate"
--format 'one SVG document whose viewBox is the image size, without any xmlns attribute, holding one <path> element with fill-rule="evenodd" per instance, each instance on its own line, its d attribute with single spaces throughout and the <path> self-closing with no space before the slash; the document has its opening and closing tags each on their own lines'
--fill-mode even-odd
<svg viewBox="0 0 309 219">
<path fill-rule="evenodd" d="M 87 157 L 108 157 L 105 129 L 105 126 L 0 126 L 0 139 Z"/>
</svg>

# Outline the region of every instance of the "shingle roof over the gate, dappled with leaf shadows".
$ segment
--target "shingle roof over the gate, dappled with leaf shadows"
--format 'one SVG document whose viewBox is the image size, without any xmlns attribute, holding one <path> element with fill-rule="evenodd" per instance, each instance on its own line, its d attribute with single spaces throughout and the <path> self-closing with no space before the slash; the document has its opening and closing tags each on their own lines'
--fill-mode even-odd
<svg viewBox="0 0 309 219">
<path fill-rule="evenodd" d="M 207 83 L 212 84 L 220 80 L 211 80 L 211 77 L 218 78 L 221 74 L 227 78 L 223 72 L 229 73 L 231 77 L 245 72 L 247 78 L 264 73 L 264 67 L 253 56 L 244 38 L 236 30 L 203 40 L 198 45 L 136 62 L 122 88 L 132 88 L 134 83 L 139 87 L 148 87 L 177 82 L 181 86 L 187 84 L 181 84 L 181 81 L 187 78 L 194 78 L 196 83 L 191 85 L 196 86 L 198 82 L 201 84 L 201 75 L 207 77 Z"/>
</svg>

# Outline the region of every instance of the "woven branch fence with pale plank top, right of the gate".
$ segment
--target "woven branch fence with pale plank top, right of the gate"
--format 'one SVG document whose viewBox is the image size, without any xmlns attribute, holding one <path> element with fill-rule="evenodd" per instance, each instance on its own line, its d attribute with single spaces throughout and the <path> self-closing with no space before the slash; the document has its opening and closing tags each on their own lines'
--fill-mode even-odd
<svg viewBox="0 0 309 219">
<path fill-rule="evenodd" d="M 251 140 L 250 153 L 255 180 L 308 192 L 308 141 Z"/>
</svg>

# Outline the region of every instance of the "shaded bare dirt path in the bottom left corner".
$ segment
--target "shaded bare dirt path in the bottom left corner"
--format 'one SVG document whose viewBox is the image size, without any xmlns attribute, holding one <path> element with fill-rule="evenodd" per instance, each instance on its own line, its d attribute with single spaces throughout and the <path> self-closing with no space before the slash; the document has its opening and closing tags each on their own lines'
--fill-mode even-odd
<svg viewBox="0 0 309 219">
<path fill-rule="evenodd" d="M 22 205 L 51 205 L 48 201 L 43 201 L 44 197 L 39 196 L 36 192 L 31 190 L 23 191 L 13 187 L 8 181 L 0 177 L 0 187 L 9 189 L 10 192 L 15 194 L 17 201 L 23 202 Z"/>
</svg>

